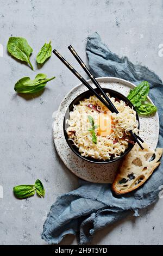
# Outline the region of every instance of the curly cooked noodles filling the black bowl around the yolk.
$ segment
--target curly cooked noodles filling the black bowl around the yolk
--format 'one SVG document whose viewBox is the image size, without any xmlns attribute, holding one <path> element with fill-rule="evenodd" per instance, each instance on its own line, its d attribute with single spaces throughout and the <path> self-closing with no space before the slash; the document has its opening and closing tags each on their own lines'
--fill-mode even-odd
<svg viewBox="0 0 163 256">
<path fill-rule="evenodd" d="M 97 129 L 95 129 L 97 144 L 92 142 L 92 134 L 88 131 L 91 127 L 88 116 L 91 115 L 97 124 L 99 114 L 105 113 L 108 109 L 95 95 L 80 101 L 79 105 L 74 105 L 73 111 L 70 112 L 70 119 L 66 120 L 69 125 L 68 137 L 82 156 L 102 160 L 109 160 L 111 157 L 116 159 L 128 148 L 128 144 L 132 143 L 129 131 L 136 134 L 139 132 L 134 109 L 127 106 L 122 100 L 117 100 L 114 97 L 110 97 L 110 99 L 120 113 L 111 113 L 112 132 L 110 135 L 103 137 L 98 135 Z"/>
</svg>

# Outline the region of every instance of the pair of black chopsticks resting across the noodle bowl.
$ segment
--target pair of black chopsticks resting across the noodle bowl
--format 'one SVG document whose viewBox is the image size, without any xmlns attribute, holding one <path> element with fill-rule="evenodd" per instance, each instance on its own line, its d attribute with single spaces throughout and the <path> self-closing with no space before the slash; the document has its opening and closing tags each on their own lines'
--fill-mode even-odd
<svg viewBox="0 0 163 256">
<path fill-rule="evenodd" d="M 82 68 L 84 69 L 84 71 L 86 72 L 86 74 L 90 77 L 91 81 L 95 84 L 96 88 L 99 89 L 99 91 L 101 92 L 101 94 L 103 95 L 103 97 L 101 95 L 99 95 L 95 89 L 93 89 L 90 84 L 88 82 L 86 82 L 86 80 L 73 68 L 73 66 L 70 65 L 70 63 L 67 62 L 67 60 L 61 56 L 61 54 L 57 51 L 57 50 L 53 50 L 53 53 L 61 60 L 62 63 L 64 63 L 68 69 L 71 70 L 71 72 L 79 78 L 79 80 L 89 89 L 91 90 L 91 92 L 93 94 L 96 95 L 96 97 L 113 113 L 115 112 L 116 114 L 118 114 L 118 110 L 116 109 L 116 107 L 114 106 L 114 104 L 111 102 L 111 100 L 109 99 L 108 95 L 106 95 L 106 93 L 103 91 L 102 87 L 99 85 L 99 83 L 97 82 L 97 80 L 95 79 L 95 77 L 91 74 L 90 70 L 87 69 L 86 65 L 84 64 L 83 60 L 78 56 L 77 52 L 74 50 L 74 48 L 70 45 L 68 46 L 68 49 L 71 51 L 71 53 L 73 54 L 73 56 L 76 58 L 77 62 L 80 64 L 80 66 L 82 66 Z M 141 143 L 139 142 L 139 140 L 143 143 L 143 140 L 139 137 L 139 135 L 136 135 L 135 133 L 133 133 L 133 131 L 129 131 L 131 136 L 133 136 L 134 141 L 137 142 L 137 144 L 139 144 L 140 148 L 143 149 Z"/>
</svg>

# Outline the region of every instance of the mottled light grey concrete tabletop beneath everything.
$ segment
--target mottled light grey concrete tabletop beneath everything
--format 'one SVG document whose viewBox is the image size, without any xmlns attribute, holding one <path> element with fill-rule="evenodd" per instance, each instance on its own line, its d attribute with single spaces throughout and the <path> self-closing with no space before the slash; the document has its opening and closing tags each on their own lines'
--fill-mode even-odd
<svg viewBox="0 0 163 256">
<path fill-rule="evenodd" d="M 45 41 L 63 53 L 80 70 L 67 50 L 72 44 L 86 60 L 85 43 L 97 31 L 110 50 L 142 63 L 162 79 L 163 57 L 158 56 L 163 43 L 162 0 L 0 0 L 0 244 L 42 245 L 42 225 L 51 204 L 61 193 L 77 188 L 78 180 L 60 161 L 52 138 L 52 113 L 64 95 L 78 80 L 52 56 L 39 69 L 35 56 Z M 11 58 L 6 45 L 10 35 L 27 38 L 34 52 L 28 66 Z M 37 97 L 17 95 L 14 84 L 23 76 L 43 72 L 57 78 Z M 84 74 L 84 73 L 82 73 Z M 86 77 L 86 76 L 85 76 Z M 17 200 L 12 187 L 33 184 L 40 179 L 46 190 L 45 199 L 37 196 Z M 107 227 L 93 238 L 93 245 L 158 245 L 163 244 L 163 199 L 141 212 Z M 132 213 L 131 213 L 132 215 Z M 61 244 L 76 244 L 68 236 Z"/>
</svg>

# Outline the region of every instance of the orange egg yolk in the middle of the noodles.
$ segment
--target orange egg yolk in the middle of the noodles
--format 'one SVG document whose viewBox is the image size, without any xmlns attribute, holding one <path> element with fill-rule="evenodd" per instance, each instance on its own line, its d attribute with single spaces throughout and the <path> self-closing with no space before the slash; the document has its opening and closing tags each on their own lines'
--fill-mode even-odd
<svg viewBox="0 0 163 256">
<path fill-rule="evenodd" d="M 98 115 L 97 124 L 98 124 L 97 135 L 101 135 L 103 137 L 110 135 L 112 132 L 111 112 L 107 111 L 105 113 L 100 113 Z"/>
</svg>

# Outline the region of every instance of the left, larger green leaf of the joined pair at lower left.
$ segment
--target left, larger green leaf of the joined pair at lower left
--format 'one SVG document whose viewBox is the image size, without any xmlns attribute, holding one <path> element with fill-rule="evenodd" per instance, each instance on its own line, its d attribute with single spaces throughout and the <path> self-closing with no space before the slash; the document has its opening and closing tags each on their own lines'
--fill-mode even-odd
<svg viewBox="0 0 163 256">
<path fill-rule="evenodd" d="M 34 185 L 19 185 L 13 188 L 15 197 L 18 199 L 24 199 L 32 197 L 35 194 Z"/>
</svg>

